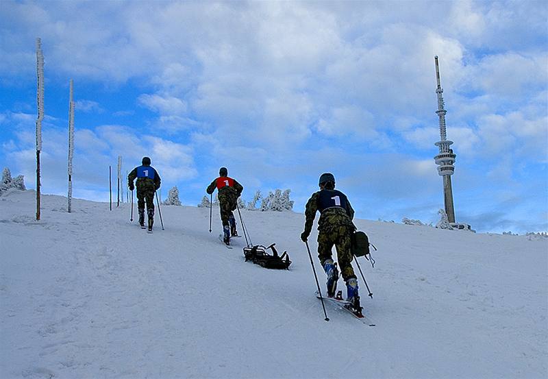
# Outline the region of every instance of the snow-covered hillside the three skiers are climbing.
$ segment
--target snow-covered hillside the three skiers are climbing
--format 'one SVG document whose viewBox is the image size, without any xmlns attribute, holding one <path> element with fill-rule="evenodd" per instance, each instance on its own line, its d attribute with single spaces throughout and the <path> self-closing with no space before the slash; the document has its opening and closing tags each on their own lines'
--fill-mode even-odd
<svg viewBox="0 0 548 379">
<path fill-rule="evenodd" d="M 288 250 L 274 271 L 221 245 L 218 210 L 210 234 L 208 208 L 162 206 L 147 234 L 128 204 L 53 195 L 37 222 L 35 196 L 0 197 L 1 378 L 548 376 L 546 239 L 357 220 L 379 249 L 360 260 L 371 327 L 323 320 L 301 214 L 242 211 Z"/>
</svg>

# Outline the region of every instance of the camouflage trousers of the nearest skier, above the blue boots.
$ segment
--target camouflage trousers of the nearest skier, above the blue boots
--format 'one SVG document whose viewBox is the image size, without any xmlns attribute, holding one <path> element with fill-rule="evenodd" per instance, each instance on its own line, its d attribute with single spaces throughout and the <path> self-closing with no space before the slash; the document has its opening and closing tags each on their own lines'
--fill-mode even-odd
<svg viewBox="0 0 548 379">
<path fill-rule="evenodd" d="M 332 249 L 337 250 L 337 262 L 343 279 L 356 278 L 352 268 L 351 233 L 353 230 L 347 225 L 334 225 L 321 228 L 318 234 L 318 258 L 323 266 L 325 260 L 332 259 Z"/>
</svg>

